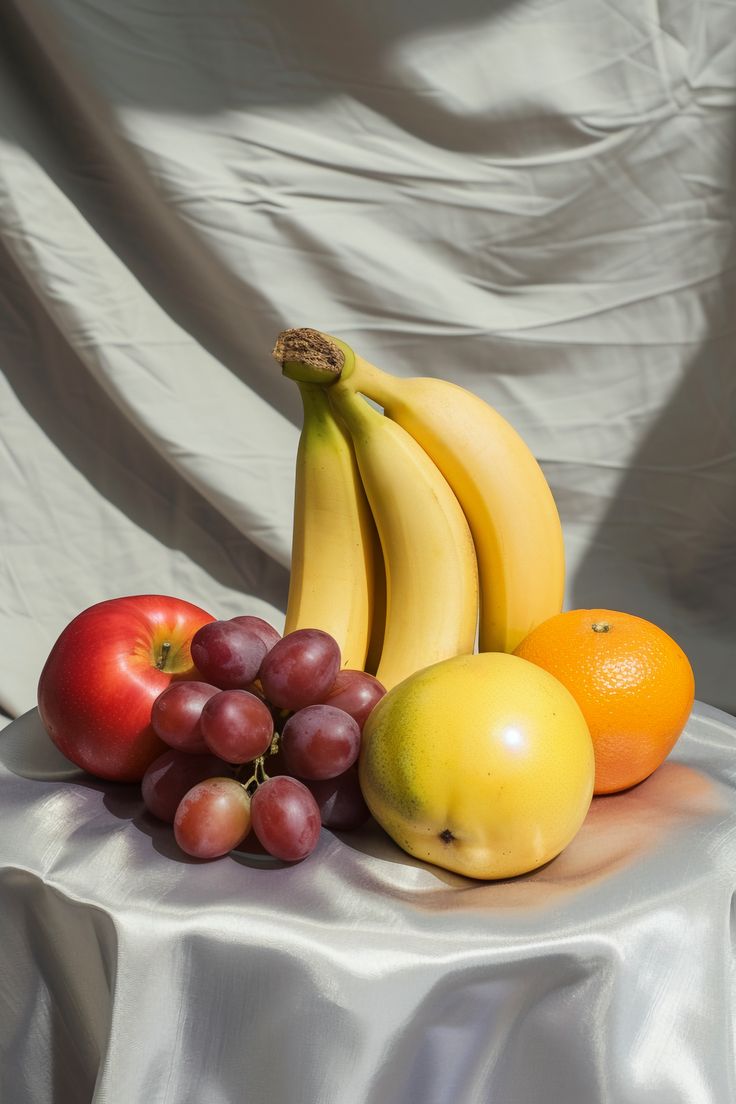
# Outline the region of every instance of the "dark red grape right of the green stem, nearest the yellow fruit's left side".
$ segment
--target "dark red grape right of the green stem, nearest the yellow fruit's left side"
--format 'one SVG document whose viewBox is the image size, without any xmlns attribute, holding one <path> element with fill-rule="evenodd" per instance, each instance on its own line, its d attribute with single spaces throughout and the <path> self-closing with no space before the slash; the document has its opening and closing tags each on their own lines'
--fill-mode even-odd
<svg viewBox="0 0 736 1104">
<path fill-rule="evenodd" d="M 306 705 L 284 725 L 280 749 L 287 767 L 299 778 L 334 778 L 358 758 L 361 730 L 342 709 Z"/>
</svg>

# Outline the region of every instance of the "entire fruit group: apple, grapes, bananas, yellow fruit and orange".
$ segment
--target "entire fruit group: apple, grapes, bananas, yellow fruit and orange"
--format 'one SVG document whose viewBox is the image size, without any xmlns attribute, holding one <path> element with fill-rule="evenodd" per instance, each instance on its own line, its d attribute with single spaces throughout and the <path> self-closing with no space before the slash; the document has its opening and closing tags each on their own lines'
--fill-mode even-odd
<svg viewBox="0 0 736 1104">
<path fill-rule="evenodd" d="M 140 783 L 196 859 L 297 862 L 372 816 L 470 878 L 537 869 L 595 795 L 670 753 L 687 657 L 634 614 L 563 612 L 554 498 L 488 403 L 317 330 L 274 355 L 303 405 L 282 634 L 162 595 L 100 602 L 41 672 L 51 740 Z"/>
</svg>

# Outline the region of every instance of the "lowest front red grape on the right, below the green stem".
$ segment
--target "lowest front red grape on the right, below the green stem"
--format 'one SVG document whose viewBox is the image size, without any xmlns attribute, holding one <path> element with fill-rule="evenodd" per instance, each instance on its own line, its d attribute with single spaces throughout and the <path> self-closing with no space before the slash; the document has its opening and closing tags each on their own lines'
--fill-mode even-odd
<svg viewBox="0 0 736 1104">
<path fill-rule="evenodd" d="M 262 782 L 250 798 L 250 814 L 254 832 L 275 858 L 298 862 L 317 847 L 319 806 L 297 778 L 280 774 Z"/>
</svg>

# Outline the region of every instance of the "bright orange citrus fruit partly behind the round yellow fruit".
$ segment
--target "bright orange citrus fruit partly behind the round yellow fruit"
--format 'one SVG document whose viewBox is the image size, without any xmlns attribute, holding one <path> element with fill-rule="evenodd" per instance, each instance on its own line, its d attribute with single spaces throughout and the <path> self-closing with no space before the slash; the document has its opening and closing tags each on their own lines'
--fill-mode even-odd
<svg viewBox="0 0 736 1104">
<path fill-rule="evenodd" d="M 596 794 L 628 789 L 655 771 L 693 705 L 687 656 L 663 629 L 633 614 L 557 614 L 514 655 L 556 676 L 580 707 L 593 737 Z"/>
</svg>

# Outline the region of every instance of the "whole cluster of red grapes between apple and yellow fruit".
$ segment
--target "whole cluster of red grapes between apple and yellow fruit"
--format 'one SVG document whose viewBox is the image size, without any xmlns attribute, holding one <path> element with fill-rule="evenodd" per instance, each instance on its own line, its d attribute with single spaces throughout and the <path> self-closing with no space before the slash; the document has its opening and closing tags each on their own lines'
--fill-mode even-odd
<svg viewBox="0 0 736 1104">
<path fill-rule="evenodd" d="M 172 682 L 151 710 L 169 745 L 146 771 L 147 809 L 173 825 L 180 848 L 216 859 L 252 832 L 277 859 L 317 847 L 320 828 L 369 817 L 358 778 L 365 720 L 385 693 L 340 667 L 317 628 L 280 636 L 260 617 L 202 626 L 192 638 L 201 679 Z"/>
</svg>

